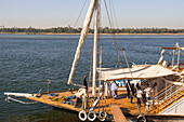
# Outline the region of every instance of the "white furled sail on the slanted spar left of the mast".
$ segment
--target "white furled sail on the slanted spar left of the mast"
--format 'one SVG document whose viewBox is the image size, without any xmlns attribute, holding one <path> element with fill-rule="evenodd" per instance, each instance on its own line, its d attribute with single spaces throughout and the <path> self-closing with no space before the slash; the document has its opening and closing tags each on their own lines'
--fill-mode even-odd
<svg viewBox="0 0 184 122">
<path fill-rule="evenodd" d="M 80 36 L 80 39 L 79 39 L 75 59 L 73 62 L 71 71 L 70 71 L 70 74 L 69 74 L 69 79 L 68 79 L 68 84 L 73 83 L 74 72 L 75 72 L 77 63 L 78 63 L 79 57 L 80 57 L 80 52 L 82 50 L 82 45 L 84 43 L 84 40 L 87 39 L 89 27 L 90 27 L 91 19 L 92 19 L 92 16 L 93 16 L 94 8 L 95 8 L 95 1 L 96 0 L 91 0 L 90 6 L 89 6 L 89 10 L 88 10 L 84 23 L 83 23 L 83 28 L 82 28 L 82 31 L 81 31 L 81 36 Z"/>
</svg>

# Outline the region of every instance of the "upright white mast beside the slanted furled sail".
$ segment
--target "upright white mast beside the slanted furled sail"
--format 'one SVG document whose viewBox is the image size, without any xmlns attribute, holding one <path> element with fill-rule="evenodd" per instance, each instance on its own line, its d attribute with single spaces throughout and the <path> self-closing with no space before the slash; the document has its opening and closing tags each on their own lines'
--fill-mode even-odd
<svg viewBox="0 0 184 122">
<path fill-rule="evenodd" d="M 96 62 L 97 62 L 97 36 L 98 36 L 98 14 L 100 14 L 100 0 L 95 3 L 95 18 L 94 18 L 94 41 L 93 41 L 93 82 L 92 82 L 92 96 L 96 96 Z"/>
</svg>

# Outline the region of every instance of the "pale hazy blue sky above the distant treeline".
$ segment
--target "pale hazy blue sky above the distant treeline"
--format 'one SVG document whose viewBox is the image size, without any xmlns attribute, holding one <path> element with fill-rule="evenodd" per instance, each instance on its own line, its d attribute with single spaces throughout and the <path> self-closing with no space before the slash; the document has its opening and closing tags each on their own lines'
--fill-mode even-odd
<svg viewBox="0 0 184 122">
<path fill-rule="evenodd" d="M 86 0 L 0 0 L 0 26 L 50 28 L 75 25 Z M 102 0 L 104 1 L 104 0 Z M 111 0 L 119 28 L 183 28 L 184 0 Z M 106 0 L 109 4 L 109 0 Z M 82 26 L 87 0 L 77 27 Z M 110 12 L 109 12 L 110 13 Z M 102 2 L 102 26 L 109 26 Z"/>
</svg>

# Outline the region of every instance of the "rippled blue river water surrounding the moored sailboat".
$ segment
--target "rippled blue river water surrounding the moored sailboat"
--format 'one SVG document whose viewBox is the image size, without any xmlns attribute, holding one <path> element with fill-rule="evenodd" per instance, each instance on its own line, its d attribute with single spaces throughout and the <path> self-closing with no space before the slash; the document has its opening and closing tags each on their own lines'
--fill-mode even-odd
<svg viewBox="0 0 184 122">
<path fill-rule="evenodd" d="M 103 67 L 119 67 L 111 36 L 101 36 Z M 89 76 L 92 36 L 89 36 L 77 65 L 74 81 L 81 83 Z M 5 103 L 4 92 L 37 93 L 48 81 L 67 81 L 79 36 L 0 35 L 0 122 L 78 122 L 78 114 L 43 104 L 23 105 Z M 156 64 L 161 46 L 184 46 L 184 36 L 116 36 L 120 59 L 127 67 L 121 48 L 129 64 Z M 171 51 L 170 51 L 171 52 Z M 166 58 L 171 60 L 168 52 Z M 184 52 L 183 52 L 184 53 Z M 180 55 L 184 60 L 183 53 Z M 175 55 L 176 57 L 176 55 Z M 176 60 L 176 59 L 175 59 Z M 52 82 L 51 91 L 74 87 L 66 82 Z M 47 87 L 43 89 L 43 92 Z M 158 121 L 162 119 L 158 119 Z M 165 119 L 167 121 L 167 119 Z"/>
</svg>

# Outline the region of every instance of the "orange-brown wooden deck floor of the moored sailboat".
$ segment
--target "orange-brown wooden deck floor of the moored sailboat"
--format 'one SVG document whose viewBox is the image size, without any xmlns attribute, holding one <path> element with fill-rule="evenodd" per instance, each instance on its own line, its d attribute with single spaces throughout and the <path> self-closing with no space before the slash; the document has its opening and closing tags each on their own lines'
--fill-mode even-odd
<svg viewBox="0 0 184 122">
<path fill-rule="evenodd" d="M 71 96 L 75 93 L 76 92 L 74 92 L 74 93 L 71 93 L 71 92 L 57 93 L 58 94 L 57 97 Z M 126 91 L 118 91 L 118 98 L 117 99 L 107 98 L 107 99 L 101 100 L 101 103 L 100 103 L 101 108 L 100 109 L 101 110 L 104 109 L 108 112 L 108 114 L 113 114 L 111 110 L 110 110 L 110 105 L 117 104 L 124 116 L 140 116 L 140 111 L 137 109 L 137 106 L 136 106 L 134 99 L 133 99 L 133 104 L 131 104 L 130 99 L 126 98 L 126 96 L 127 96 Z M 51 106 L 54 106 L 54 107 L 57 107 L 57 108 L 64 108 L 64 109 L 73 110 L 73 111 L 82 110 L 81 108 L 75 108 L 75 106 L 63 104 L 62 101 L 52 101 L 51 99 L 49 99 L 49 97 L 50 97 L 49 94 L 43 94 L 40 98 L 38 98 L 38 97 L 26 97 L 26 98 L 31 99 L 31 100 L 36 100 L 36 101 L 39 101 L 39 103 L 43 103 L 43 104 L 47 104 L 47 105 L 51 105 Z M 76 99 L 74 99 L 74 100 L 76 100 Z M 92 106 L 92 104 L 93 103 L 91 103 L 90 106 Z M 97 106 L 98 106 L 98 104 L 97 104 Z M 96 112 L 98 111 L 97 106 L 94 109 L 94 111 L 96 111 Z M 141 107 L 141 111 L 145 116 L 156 116 L 155 113 L 146 112 L 144 107 Z"/>
</svg>

